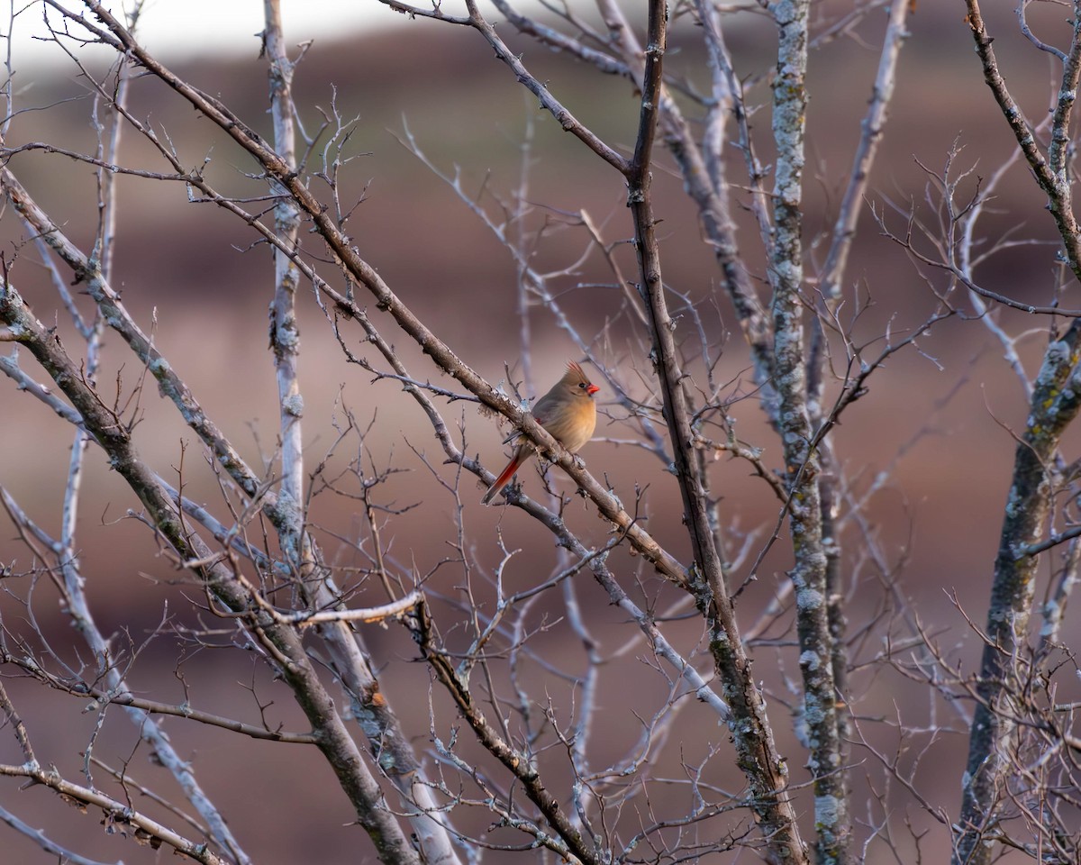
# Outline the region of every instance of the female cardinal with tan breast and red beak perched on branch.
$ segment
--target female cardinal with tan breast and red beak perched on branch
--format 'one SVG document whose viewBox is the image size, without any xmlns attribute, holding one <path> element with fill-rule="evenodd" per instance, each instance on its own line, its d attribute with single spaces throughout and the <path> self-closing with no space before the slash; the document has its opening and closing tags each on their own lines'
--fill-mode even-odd
<svg viewBox="0 0 1081 865">
<path fill-rule="evenodd" d="M 566 373 L 563 377 L 533 407 L 533 418 L 556 441 L 571 453 L 576 453 L 578 448 L 593 437 L 593 428 L 597 426 L 597 405 L 593 402 L 593 394 L 598 390 L 600 388 L 586 377 L 582 367 L 570 360 L 566 363 Z M 499 494 L 499 491 L 510 482 L 515 473 L 536 451 L 535 445 L 520 432 L 511 432 L 506 441 L 511 439 L 518 440 L 515 455 L 507 463 L 507 467 L 499 473 L 495 482 L 488 488 L 484 497 L 480 500 L 485 505 Z"/>
</svg>

